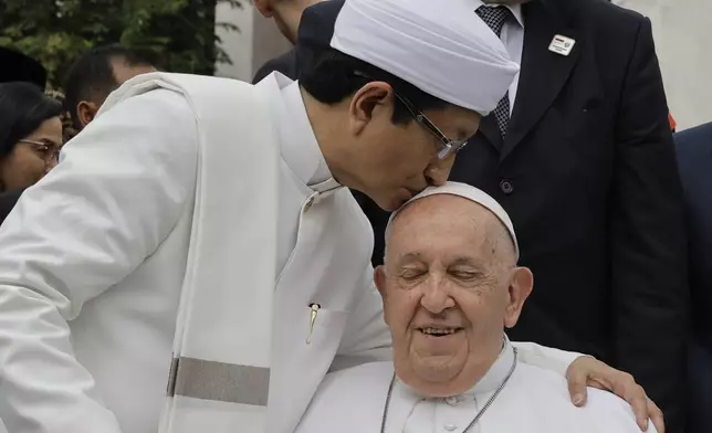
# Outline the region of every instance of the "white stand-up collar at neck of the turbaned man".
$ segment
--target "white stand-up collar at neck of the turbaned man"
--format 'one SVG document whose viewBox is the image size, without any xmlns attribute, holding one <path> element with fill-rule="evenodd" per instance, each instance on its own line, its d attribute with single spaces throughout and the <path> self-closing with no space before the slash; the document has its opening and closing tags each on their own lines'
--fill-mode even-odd
<svg viewBox="0 0 712 433">
<path fill-rule="evenodd" d="M 284 78 L 284 77 L 282 77 Z M 294 175 L 316 192 L 339 188 L 326 165 L 308 119 L 299 82 L 286 83 L 278 76 L 284 112 L 279 120 L 282 156 Z"/>
</svg>

